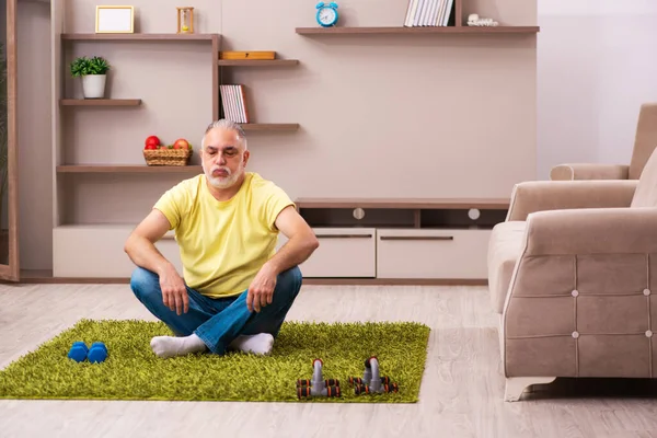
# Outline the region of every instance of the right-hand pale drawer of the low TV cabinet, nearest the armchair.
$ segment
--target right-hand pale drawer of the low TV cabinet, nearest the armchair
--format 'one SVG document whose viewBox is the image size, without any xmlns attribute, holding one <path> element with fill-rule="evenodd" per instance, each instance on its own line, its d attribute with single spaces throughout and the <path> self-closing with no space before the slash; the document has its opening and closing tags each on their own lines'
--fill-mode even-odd
<svg viewBox="0 0 657 438">
<path fill-rule="evenodd" d="M 491 230 L 378 230 L 380 278 L 487 278 Z"/>
</svg>

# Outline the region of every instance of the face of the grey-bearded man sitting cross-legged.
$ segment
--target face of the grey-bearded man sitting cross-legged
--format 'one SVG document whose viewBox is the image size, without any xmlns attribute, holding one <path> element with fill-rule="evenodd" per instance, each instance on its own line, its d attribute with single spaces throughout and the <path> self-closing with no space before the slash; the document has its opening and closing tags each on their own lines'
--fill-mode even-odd
<svg viewBox="0 0 657 438">
<path fill-rule="evenodd" d="M 228 188 L 244 173 L 249 151 L 233 130 L 215 128 L 205 136 L 201 151 L 203 171 L 210 184 Z"/>
</svg>

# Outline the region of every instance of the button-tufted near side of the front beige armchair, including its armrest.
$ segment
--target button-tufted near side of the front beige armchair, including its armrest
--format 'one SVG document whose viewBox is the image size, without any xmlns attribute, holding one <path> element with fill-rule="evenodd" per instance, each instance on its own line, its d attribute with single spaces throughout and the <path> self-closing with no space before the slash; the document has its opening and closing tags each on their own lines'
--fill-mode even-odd
<svg viewBox="0 0 657 438">
<path fill-rule="evenodd" d="M 529 216 L 503 314 L 505 376 L 654 377 L 655 223 L 655 207 Z"/>
</svg>

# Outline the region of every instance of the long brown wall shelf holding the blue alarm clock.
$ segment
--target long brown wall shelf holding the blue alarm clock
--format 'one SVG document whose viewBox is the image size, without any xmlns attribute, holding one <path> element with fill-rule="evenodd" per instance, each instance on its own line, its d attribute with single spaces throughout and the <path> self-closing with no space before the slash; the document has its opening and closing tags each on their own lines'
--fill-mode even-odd
<svg viewBox="0 0 657 438">
<path fill-rule="evenodd" d="M 535 34 L 539 26 L 435 26 L 435 27 L 297 27 L 300 35 L 416 35 L 416 34 Z"/>
</svg>

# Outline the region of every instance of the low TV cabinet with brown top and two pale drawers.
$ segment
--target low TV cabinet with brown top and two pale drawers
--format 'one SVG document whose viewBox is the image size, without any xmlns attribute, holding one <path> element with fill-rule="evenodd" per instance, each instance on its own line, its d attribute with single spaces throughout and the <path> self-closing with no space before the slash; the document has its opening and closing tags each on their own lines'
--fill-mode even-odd
<svg viewBox="0 0 657 438">
<path fill-rule="evenodd" d="M 301 272 L 315 284 L 485 285 L 491 230 L 509 204 L 300 198 L 297 208 L 320 240 Z"/>
</svg>

